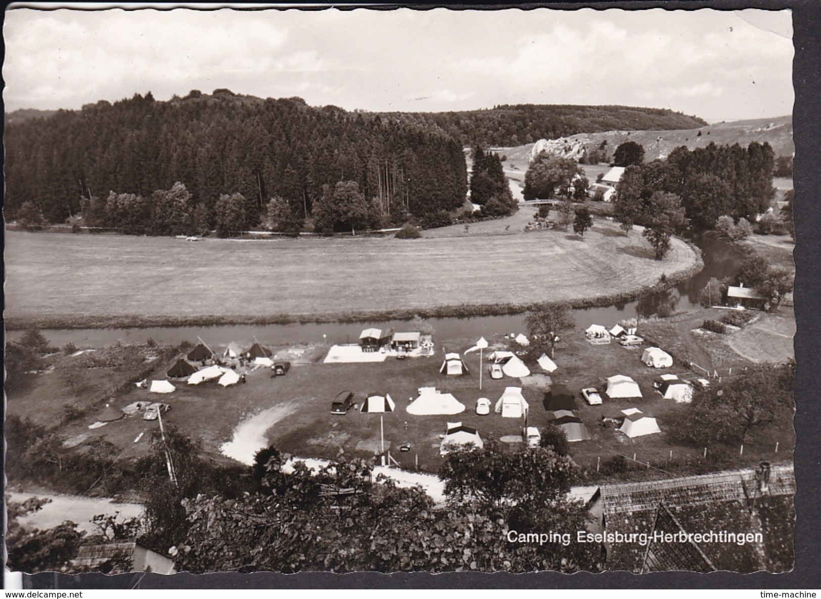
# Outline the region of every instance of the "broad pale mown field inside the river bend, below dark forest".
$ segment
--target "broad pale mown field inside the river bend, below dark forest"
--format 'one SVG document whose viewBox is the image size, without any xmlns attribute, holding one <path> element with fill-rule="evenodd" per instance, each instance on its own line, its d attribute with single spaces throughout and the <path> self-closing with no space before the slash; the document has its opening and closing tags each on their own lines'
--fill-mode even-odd
<svg viewBox="0 0 821 599">
<path fill-rule="evenodd" d="M 521 217 L 507 222 L 510 229 L 521 231 Z M 510 232 L 504 221 L 493 223 Z M 94 318 L 107 316 L 241 321 L 594 298 L 637 290 L 697 260 L 675 240 L 658 262 L 638 233 L 626 237 L 603 220 L 583 240 L 565 231 L 488 231 L 420 240 L 192 243 L 9 231 L 5 257 L 7 322 L 37 319 L 41 327 L 84 319 L 93 326 Z"/>
</svg>

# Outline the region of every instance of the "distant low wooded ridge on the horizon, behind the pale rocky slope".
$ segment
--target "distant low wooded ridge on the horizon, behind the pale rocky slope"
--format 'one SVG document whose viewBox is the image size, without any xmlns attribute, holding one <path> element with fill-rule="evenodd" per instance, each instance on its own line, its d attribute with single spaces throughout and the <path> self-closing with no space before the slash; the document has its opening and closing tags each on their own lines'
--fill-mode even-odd
<svg viewBox="0 0 821 599">
<path fill-rule="evenodd" d="M 698 117 L 658 108 L 517 104 L 462 112 L 384 112 L 426 130 L 442 130 L 463 145 L 516 146 L 539 139 L 612 130 L 694 129 Z"/>
</svg>

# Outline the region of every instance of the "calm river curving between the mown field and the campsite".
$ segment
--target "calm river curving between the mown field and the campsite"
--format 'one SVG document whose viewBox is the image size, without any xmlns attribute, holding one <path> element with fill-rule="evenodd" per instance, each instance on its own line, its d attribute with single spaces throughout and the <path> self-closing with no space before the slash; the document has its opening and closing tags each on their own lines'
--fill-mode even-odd
<svg viewBox="0 0 821 599">
<path fill-rule="evenodd" d="M 674 290 L 648 295 L 641 300 L 617 304 L 605 308 L 576 309 L 573 315 L 576 326 L 587 328 L 597 323 L 612 326 L 624 318 L 648 317 L 655 313 L 658 305 L 673 298 L 676 310 L 693 309 L 698 305 L 699 292 L 711 277 L 721 280 L 732 277 L 741 264 L 743 252 L 737 246 L 714 237 L 694 240 L 703 252 L 704 269 L 695 277 L 680 283 Z M 472 318 L 428 318 L 434 336 L 440 339 L 461 339 L 465 337 L 498 336 L 525 331 L 523 314 L 508 316 L 480 316 Z M 368 327 L 404 330 L 407 321 L 379 322 L 308 322 L 305 324 L 268 325 L 218 325 L 214 327 L 147 327 L 112 329 L 44 330 L 43 334 L 55 346 L 73 343 L 78 348 L 104 347 L 117 341 L 124 344 L 144 343 L 153 339 L 160 344 L 179 345 L 182 341 L 196 342 L 201 337 L 206 343 L 225 345 L 231 341 L 247 344 L 256 339 L 263 345 L 309 344 L 309 343 L 351 343 L 359 339 L 360 332 Z M 25 334 L 21 331 L 8 333 L 11 341 Z"/>
</svg>

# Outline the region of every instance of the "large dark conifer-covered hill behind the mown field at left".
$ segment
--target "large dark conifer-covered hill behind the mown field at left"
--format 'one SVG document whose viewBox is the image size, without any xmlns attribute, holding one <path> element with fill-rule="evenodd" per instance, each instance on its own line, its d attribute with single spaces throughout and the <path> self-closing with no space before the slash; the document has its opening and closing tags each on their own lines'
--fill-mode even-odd
<svg viewBox="0 0 821 599">
<path fill-rule="evenodd" d="M 29 202 L 49 222 L 76 214 L 81 196 L 104 203 L 111 191 L 134 194 L 139 201 L 128 205 L 140 210 L 133 217 L 149 220 L 150 196 L 177 181 L 190 194 L 186 213 L 197 207 L 212 225 L 220 196 L 242 194 L 251 227 L 274 195 L 304 215 L 323 185 L 339 181 L 355 182 L 389 222 L 401 222 L 406 210 L 424 218 L 457 208 L 467 191 L 461 144 L 442 131 L 227 89 L 168 102 L 136 94 L 11 120 L 5 144 L 7 217 Z M 115 220 L 122 224 L 122 215 Z"/>
</svg>

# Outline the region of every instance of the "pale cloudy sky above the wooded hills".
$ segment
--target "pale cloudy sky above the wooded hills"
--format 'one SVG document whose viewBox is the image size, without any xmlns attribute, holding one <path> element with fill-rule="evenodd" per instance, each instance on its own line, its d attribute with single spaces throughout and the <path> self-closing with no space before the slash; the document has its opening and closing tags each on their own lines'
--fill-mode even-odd
<svg viewBox="0 0 821 599">
<path fill-rule="evenodd" d="M 790 11 L 12 4 L 3 100 L 7 112 L 79 109 L 227 88 L 347 110 L 620 104 L 731 121 L 791 114 L 791 35 Z"/>
</svg>

